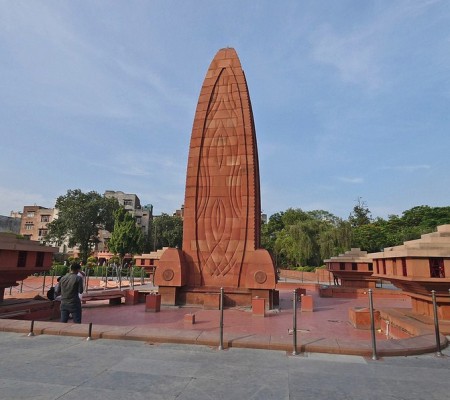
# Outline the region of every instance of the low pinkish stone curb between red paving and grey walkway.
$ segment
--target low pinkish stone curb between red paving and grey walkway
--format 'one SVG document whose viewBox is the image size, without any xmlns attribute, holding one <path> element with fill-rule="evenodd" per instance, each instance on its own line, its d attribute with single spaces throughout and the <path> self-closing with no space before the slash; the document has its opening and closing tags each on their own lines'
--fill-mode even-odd
<svg viewBox="0 0 450 400">
<path fill-rule="evenodd" d="M 0 320 L 0 332 L 29 333 L 31 321 Z M 36 335 L 60 335 L 88 337 L 89 324 L 63 324 L 61 322 L 35 321 Z M 211 331 L 142 328 L 136 326 L 93 325 L 92 339 L 137 340 L 149 343 L 180 343 L 215 347 L 219 345 L 219 333 Z M 445 336 L 440 336 L 441 348 L 448 345 Z M 224 333 L 225 348 L 249 348 L 261 350 L 293 351 L 292 336 L 242 335 Z M 298 341 L 299 353 L 328 353 L 342 355 L 372 355 L 371 342 L 367 340 L 348 341 L 335 338 L 309 337 Z M 436 351 L 436 339 L 432 333 L 424 333 L 407 339 L 392 339 L 377 342 L 379 357 L 419 355 Z"/>
</svg>

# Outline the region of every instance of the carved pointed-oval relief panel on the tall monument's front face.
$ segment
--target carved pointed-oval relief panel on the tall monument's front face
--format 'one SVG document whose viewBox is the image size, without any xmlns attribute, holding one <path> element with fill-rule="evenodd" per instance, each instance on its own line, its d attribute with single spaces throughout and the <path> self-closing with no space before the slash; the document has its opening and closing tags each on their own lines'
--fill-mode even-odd
<svg viewBox="0 0 450 400">
<path fill-rule="evenodd" d="M 240 92 L 231 68 L 218 75 L 209 100 L 202 132 L 200 165 L 196 194 L 196 222 L 200 231 L 210 232 L 205 239 L 196 235 L 200 268 L 210 276 L 226 276 L 240 268 L 244 257 L 241 241 L 246 240 L 248 182 L 246 163 L 239 154 L 244 135 L 238 135 L 238 121 L 243 121 Z M 241 115 L 239 115 L 239 111 Z M 242 127 L 243 128 L 243 127 Z M 225 188 L 222 196 L 214 195 L 216 188 Z M 248 202 L 248 200 L 247 200 Z M 198 232 L 198 231 L 197 231 Z M 204 249 L 204 250 L 203 250 Z"/>
</svg>

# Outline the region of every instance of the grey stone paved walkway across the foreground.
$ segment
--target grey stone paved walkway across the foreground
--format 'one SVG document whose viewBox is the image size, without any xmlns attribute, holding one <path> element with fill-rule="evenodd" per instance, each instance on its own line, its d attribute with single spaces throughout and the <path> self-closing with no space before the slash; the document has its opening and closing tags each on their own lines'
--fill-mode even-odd
<svg viewBox="0 0 450 400">
<path fill-rule="evenodd" d="M 0 398 L 447 400 L 450 351 L 444 353 L 373 361 L 0 332 Z"/>
</svg>

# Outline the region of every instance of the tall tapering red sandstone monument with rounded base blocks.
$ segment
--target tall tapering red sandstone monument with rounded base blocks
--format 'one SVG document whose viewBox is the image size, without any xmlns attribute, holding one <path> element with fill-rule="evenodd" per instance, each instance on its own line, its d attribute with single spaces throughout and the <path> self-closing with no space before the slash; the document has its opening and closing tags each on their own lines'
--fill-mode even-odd
<svg viewBox="0 0 450 400">
<path fill-rule="evenodd" d="M 260 248 L 258 151 L 244 71 L 232 48 L 206 73 L 189 148 L 183 248 L 167 249 L 155 273 L 163 304 L 277 302 L 276 273 Z"/>
</svg>

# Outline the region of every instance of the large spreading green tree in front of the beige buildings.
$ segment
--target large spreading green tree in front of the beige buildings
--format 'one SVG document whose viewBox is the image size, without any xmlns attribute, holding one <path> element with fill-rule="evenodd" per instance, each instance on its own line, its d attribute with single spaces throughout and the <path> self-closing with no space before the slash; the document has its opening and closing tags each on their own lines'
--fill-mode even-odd
<svg viewBox="0 0 450 400">
<path fill-rule="evenodd" d="M 108 199 L 95 191 L 68 190 L 56 200 L 58 218 L 48 224 L 46 240 L 58 244 L 68 240 L 69 247 L 78 246 L 81 261 L 86 263 L 98 242 L 99 230 L 112 230 L 113 213 L 118 207 L 116 199 Z"/>
</svg>

